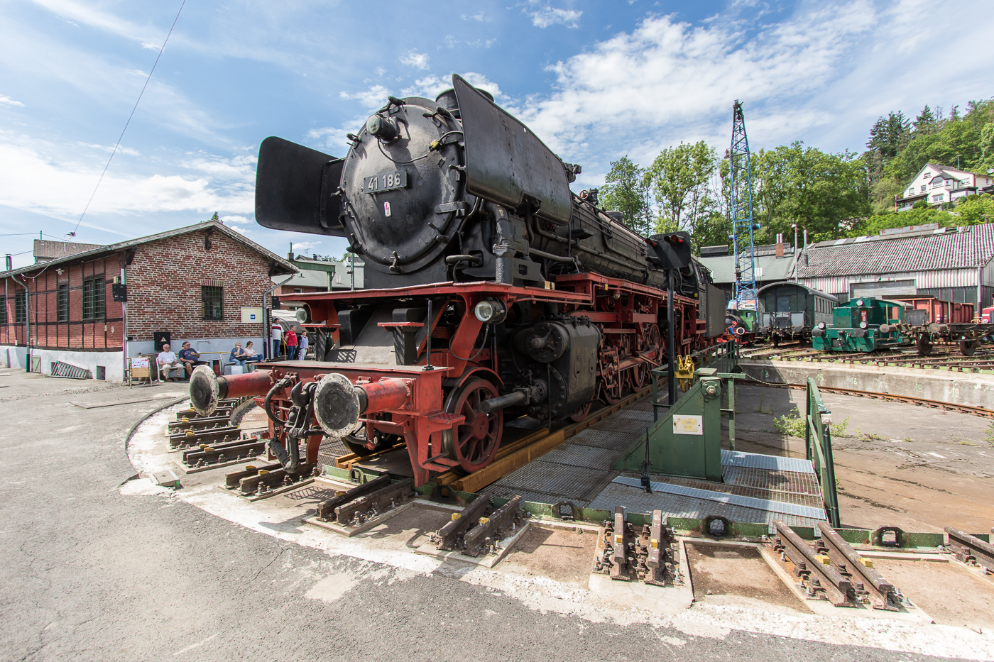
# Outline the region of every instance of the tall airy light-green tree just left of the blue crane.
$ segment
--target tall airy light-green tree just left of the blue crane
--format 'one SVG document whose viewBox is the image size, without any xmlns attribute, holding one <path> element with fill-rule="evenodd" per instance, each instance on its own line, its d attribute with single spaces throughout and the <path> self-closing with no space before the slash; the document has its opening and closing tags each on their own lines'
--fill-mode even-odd
<svg viewBox="0 0 994 662">
<path fill-rule="evenodd" d="M 660 206 L 658 229 L 684 229 L 697 235 L 709 215 L 708 183 L 715 173 L 715 150 L 703 140 L 681 142 L 660 152 L 647 171 L 648 181 Z"/>
</svg>

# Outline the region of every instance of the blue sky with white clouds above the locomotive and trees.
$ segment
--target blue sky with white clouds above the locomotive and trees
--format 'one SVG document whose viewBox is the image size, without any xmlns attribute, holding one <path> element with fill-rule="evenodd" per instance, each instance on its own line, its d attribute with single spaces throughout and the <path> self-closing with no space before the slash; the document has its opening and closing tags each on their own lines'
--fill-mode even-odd
<svg viewBox="0 0 994 662">
<path fill-rule="evenodd" d="M 0 0 L 0 253 L 83 212 L 180 0 Z M 254 223 L 267 135 L 345 152 L 387 94 L 453 72 L 492 91 L 597 186 L 680 141 L 862 151 L 890 110 L 990 97 L 988 2 L 249 2 L 188 0 L 76 241 L 209 218 L 285 254 L 343 240 Z M 25 234 L 22 236 L 17 236 Z M 25 251 L 28 251 L 25 253 Z"/>
</svg>

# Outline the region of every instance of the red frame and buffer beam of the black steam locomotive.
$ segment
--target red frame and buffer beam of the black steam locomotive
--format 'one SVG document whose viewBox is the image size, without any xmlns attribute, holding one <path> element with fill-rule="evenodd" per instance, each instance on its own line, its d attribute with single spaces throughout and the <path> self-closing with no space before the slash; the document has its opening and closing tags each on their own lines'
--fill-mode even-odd
<svg viewBox="0 0 994 662">
<path fill-rule="evenodd" d="M 484 334 L 484 343 L 476 346 L 483 322 L 477 319 L 473 310 L 480 301 L 499 299 L 508 310 L 515 303 L 532 302 L 539 306 L 555 303 L 562 306 L 566 315 L 585 317 L 597 325 L 601 330 L 601 343 L 597 357 L 596 399 L 607 404 L 617 402 L 625 389 L 644 387 L 649 370 L 665 361 L 665 334 L 660 333 L 659 324 L 660 312 L 666 309 L 665 291 L 591 272 L 560 275 L 555 288 L 552 284 L 549 287 L 447 282 L 398 289 L 298 294 L 297 298 L 310 308 L 310 318 L 324 320 L 303 326 L 330 332 L 336 344 L 339 336 L 336 306 L 430 298 L 454 304 L 460 316 L 454 325 L 441 324 L 446 306 L 439 305 L 433 310 L 430 365 L 425 334 L 416 348 L 414 365 L 267 362 L 259 364 L 248 375 L 217 378 L 212 389 L 215 397 L 254 396 L 260 405 L 263 404 L 260 397 L 267 395 L 270 418 L 285 421 L 293 407 L 291 392 L 295 387 L 299 393 L 299 385 L 306 387 L 337 373 L 347 378 L 357 390 L 359 399 L 365 401 L 356 425 L 366 426 L 367 439 L 373 439 L 376 431 L 397 435 L 406 441 L 415 485 L 426 483 L 431 471 L 460 468 L 471 472 L 493 460 L 503 432 L 502 411 L 490 414 L 480 411 L 480 403 L 498 397 L 502 385 L 495 342 L 487 341 Z M 705 337 L 707 322 L 698 319 L 695 299 L 676 295 L 674 317 L 677 355 L 721 342 L 720 337 Z M 400 322 L 381 323 L 381 326 L 423 327 L 423 324 Z M 207 378 L 214 379 L 213 375 Z M 281 387 L 274 389 L 277 384 Z M 310 393 L 314 393 L 313 388 Z M 202 409 L 196 398 L 194 404 Z M 589 409 L 589 405 L 582 408 L 574 414 L 574 419 L 582 419 Z M 308 414 L 313 410 L 313 407 L 307 410 Z M 314 418 L 321 422 L 319 415 L 314 414 Z M 303 431 L 300 438 L 305 439 L 306 462 L 317 461 L 325 432 L 327 428 L 315 426 Z M 270 420 L 269 436 L 286 447 L 287 425 Z"/>
</svg>

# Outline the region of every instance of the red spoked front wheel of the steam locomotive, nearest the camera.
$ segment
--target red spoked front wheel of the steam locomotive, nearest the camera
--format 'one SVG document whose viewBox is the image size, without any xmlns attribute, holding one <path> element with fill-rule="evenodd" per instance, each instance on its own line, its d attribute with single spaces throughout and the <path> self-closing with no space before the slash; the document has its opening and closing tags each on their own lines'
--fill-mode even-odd
<svg viewBox="0 0 994 662">
<path fill-rule="evenodd" d="M 483 414 L 480 404 L 499 395 L 497 387 L 487 380 L 471 379 L 454 389 L 445 401 L 446 413 L 462 414 L 466 419 L 454 429 L 442 432 L 442 445 L 448 456 L 467 473 L 490 464 L 497 453 L 504 431 L 504 411 Z"/>
</svg>

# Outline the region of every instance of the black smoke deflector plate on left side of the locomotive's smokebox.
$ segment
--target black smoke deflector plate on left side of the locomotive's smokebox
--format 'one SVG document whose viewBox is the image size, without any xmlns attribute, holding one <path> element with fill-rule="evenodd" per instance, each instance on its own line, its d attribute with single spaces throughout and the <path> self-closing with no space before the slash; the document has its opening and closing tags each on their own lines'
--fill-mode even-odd
<svg viewBox="0 0 994 662">
<path fill-rule="evenodd" d="M 342 159 L 269 136 L 258 148 L 255 221 L 263 228 L 345 237 L 335 197 Z"/>
</svg>

